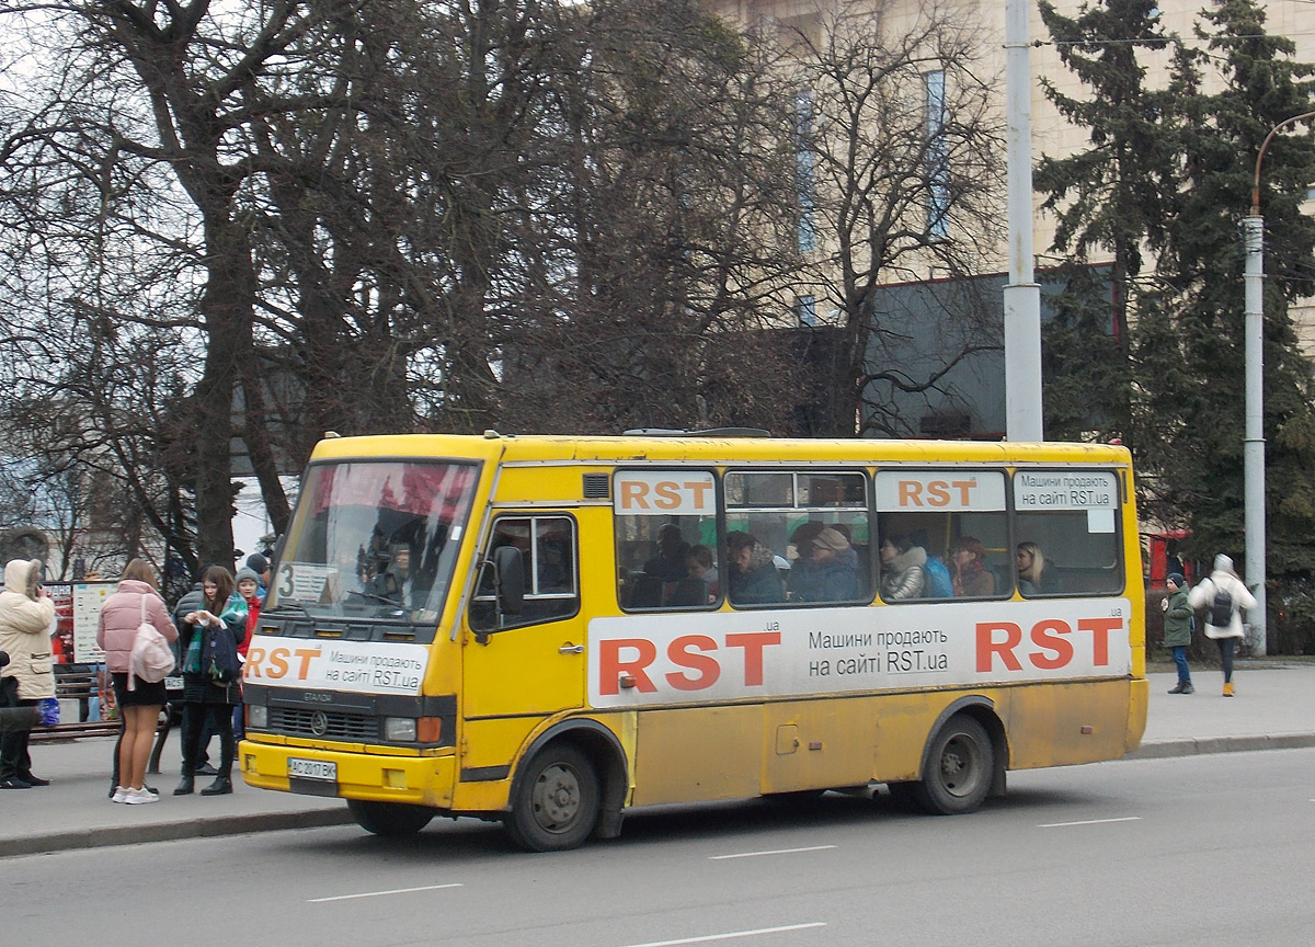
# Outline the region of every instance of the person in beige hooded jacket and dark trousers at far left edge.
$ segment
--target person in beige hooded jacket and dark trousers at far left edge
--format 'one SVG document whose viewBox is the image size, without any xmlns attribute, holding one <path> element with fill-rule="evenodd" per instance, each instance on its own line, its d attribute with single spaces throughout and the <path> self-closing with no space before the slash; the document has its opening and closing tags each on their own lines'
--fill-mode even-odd
<svg viewBox="0 0 1315 947">
<path fill-rule="evenodd" d="M 50 658 L 50 629 L 55 604 L 41 585 L 38 559 L 14 559 L 4 567 L 0 592 L 0 651 L 9 663 L 0 669 L 0 705 L 37 706 L 55 696 L 55 671 Z M 50 785 L 32 772 L 28 752 L 30 730 L 7 730 L 0 735 L 0 789 L 30 789 Z"/>
</svg>

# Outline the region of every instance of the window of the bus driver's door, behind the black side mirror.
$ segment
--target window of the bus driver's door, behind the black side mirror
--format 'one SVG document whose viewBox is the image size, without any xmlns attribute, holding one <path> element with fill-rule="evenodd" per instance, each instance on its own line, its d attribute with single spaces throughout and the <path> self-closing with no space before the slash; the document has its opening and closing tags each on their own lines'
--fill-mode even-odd
<svg viewBox="0 0 1315 947">
<path fill-rule="evenodd" d="M 493 567 L 483 566 L 469 609 L 473 630 L 494 631 L 498 627 L 560 621 L 580 610 L 580 596 L 576 592 L 576 575 L 579 575 L 576 529 L 571 517 L 500 517 L 493 523 L 493 533 L 481 562 L 490 560 L 493 550 L 504 546 L 521 552 L 525 602 L 518 614 L 504 614 L 498 626 Z"/>
</svg>

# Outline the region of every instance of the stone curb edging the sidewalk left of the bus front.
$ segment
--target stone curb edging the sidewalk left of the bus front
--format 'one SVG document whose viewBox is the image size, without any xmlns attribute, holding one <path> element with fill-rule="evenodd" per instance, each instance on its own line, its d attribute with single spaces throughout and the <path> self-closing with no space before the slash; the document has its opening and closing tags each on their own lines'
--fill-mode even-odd
<svg viewBox="0 0 1315 947">
<path fill-rule="evenodd" d="M 57 831 L 43 835 L 20 835 L 0 839 L 0 858 L 11 855 L 49 855 L 72 848 L 103 848 L 107 846 L 138 844 L 142 842 L 175 842 L 216 835 L 245 835 L 256 831 L 284 829 L 322 829 L 354 822 L 347 806 L 341 809 L 312 809 L 291 813 L 256 813 L 252 815 L 217 815 L 185 822 L 154 822 L 150 825 L 105 826 Z"/>
</svg>

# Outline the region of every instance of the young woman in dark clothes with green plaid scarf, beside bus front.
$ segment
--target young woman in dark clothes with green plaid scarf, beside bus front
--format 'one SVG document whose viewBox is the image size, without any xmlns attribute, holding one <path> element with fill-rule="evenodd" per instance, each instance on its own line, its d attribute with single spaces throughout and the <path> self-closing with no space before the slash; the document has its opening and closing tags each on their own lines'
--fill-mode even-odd
<svg viewBox="0 0 1315 947">
<path fill-rule="evenodd" d="M 220 735 L 220 768 L 203 796 L 233 792 L 233 708 L 242 702 L 238 644 L 246 638 L 247 606 L 233 573 L 210 566 L 201 573 L 201 608 L 183 616 L 183 779 L 175 796 L 195 790 L 201 730 L 208 723 Z"/>
</svg>

